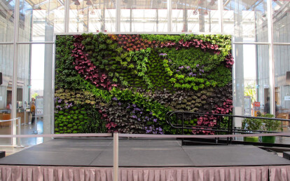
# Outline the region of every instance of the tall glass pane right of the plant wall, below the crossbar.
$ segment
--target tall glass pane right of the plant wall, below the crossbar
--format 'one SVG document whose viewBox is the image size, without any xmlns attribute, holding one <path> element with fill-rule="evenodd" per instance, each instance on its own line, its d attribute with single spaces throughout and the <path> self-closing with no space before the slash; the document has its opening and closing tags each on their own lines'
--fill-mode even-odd
<svg viewBox="0 0 290 181">
<path fill-rule="evenodd" d="M 270 97 L 268 46 L 235 44 L 233 50 L 235 109 L 240 109 L 237 112 L 246 116 L 270 111 L 270 102 L 267 101 Z M 254 102 L 260 102 L 261 106 L 254 107 Z M 269 109 L 265 110 L 267 103 Z"/>
</svg>

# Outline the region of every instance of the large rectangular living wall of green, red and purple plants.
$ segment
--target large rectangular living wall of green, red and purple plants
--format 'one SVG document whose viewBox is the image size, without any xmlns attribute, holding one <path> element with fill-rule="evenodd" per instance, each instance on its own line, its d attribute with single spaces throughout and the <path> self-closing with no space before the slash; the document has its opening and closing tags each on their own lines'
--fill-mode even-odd
<svg viewBox="0 0 290 181">
<path fill-rule="evenodd" d="M 230 114 L 230 36 L 57 36 L 55 133 L 174 134 L 171 110 Z M 215 126 L 212 117 L 192 126 Z M 211 133 L 195 131 L 188 133 Z"/>
</svg>

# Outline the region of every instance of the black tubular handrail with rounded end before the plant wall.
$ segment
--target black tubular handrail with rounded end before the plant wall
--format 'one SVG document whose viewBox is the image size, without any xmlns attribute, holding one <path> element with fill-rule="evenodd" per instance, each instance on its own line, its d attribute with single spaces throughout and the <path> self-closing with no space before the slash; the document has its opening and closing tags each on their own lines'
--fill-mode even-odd
<svg viewBox="0 0 290 181">
<path fill-rule="evenodd" d="M 198 118 L 200 116 L 214 116 L 216 117 L 216 125 L 215 126 L 193 126 L 188 125 L 184 123 L 184 116 L 190 115 L 190 117 Z M 176 123 L 173 123 L 174 116 L 181 116 L 181 123 L 178 122 L 179 119 L 176 119 Z M 228 117 L 227 125 L 228 128 L 222 128 L 221 122 L 224 121 L 224 118 Z M 212 131 L 213 133 L 226 133 L 228 135 L 233 135 L 234 133 L 241 133 L 241 134 L 253 134 L 253 133 L 279 133 L 275 131 L 265 131 L 265 130 L 246 130 L 241 128 L 233 128 L 233 119 L 234 118 L 242 118 L 242 119 L 266 119 L 266 120 L 275 120 L 275 121 L 287 121 L 289 122 L 289 119 L 277 119 L 277 118 L 267 118 L 267 117 L 254 117 L 254 116 L 240 116 L 240 115 L 231 115 L 231 114 L 211 114 L 211 113 L 200 113 L 200 112 L 167 112 L 165 115 L 165 120 L 167 123 L 172 126 L 172 128 L 176 128 L 177 130 L 181 130 L 181 134 L 184 135 L 184 129 L 187 130 L 208 130 Z M 217 139 L 218 140 L 218 139 Z M 216 140 L 216 142 L 217 142 Z M 182 139 L 184 142 L 184 139 Z M 232 138 L 227 138 L 227 144 L 232 143 Z M 240 144 L 240 142 L 239 142 Z M 262 144 L 263 145 L 263 144 Z M 269 144 L 265 144 L 269 145 Z M 271 144 L 270 144 L 271 145 Z M 277 145 L 277 144 L 275 144 Z M 279 144 L 279 147 L 281 147 L 282 144 Z M 273 144 L 271 145 L 273 146 Z M 289 145 L 287 145 L 289 147 Z"/>
</svg>

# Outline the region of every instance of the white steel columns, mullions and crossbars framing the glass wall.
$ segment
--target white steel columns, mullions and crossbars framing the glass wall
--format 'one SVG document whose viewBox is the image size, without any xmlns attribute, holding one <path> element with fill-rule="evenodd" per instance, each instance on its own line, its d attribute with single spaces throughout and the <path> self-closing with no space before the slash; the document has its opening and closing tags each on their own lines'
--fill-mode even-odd
<svg viewBox="0 0 290 181">
<path fill-rule="evenodd" d="M 120 34 L 120 1 L 116 0 L 117 8 L 116 8 L 116 32 L 113 32 L 114 34 Z M 65 1 L 64 4 L 64 33 L 69 34 L 69 2 Z M 14 9 L 14 39 L 13 42 L 0 42 L 0 45 L 13 45 L 13 102 L 12 102 L 12 118 L 16 118 L 16 99 L 17 99 L 17 79 L 18 79 L 18 45 L 20 44 L 54 44 L 53 41 L 43 41 L 43 42 L 19 42 L 18 41 L 18 30 L 19 30 L 19 9 L 20 9 L 20 0 L 15 0 L 15 9 Z M 218 0 L 218 11 L 219 11 L 219 27 L 221 29 L 221 32 L 216 32 L 214 34 L 223 34 L 223 1 Z M 164 34 L 172 34 L 172 0 L 167 0 L 167 25 L 168 25 L 168 32 Z M 267 0 L 267 17 L 268 17 L 268 25 L 270 25 L 270 28 L 268 28 L 268 42 L 235 42 L 233 41 L 234 45 L 246 45 L 246 44 L 252 44 L 252 45 L 268 45 L 269 48 L 269 77 L 270 77 L 270 103 L 271 103 L 271 110 L 270 112 L 272 114 L 275 113 L 275 82 L 274 82 L 274 55 L 273 55 L 273 46 L 274 45 L 280 45 L 280 46 L 290 46 L 290 43 L 274 43 L 273 42 L 273 25 L 272 25 L 272 0 Z M 140 33 L 140 32 L 138 32 Z M 148 32 L 146 32 L 148 34 Z M 177 34 L 177 33 L 173 33 Z M 182 32 L 184 34 L 184 32 Z M 195 34 L 193 32 L 193 34 Z M 208 33 L 207 33 L 208 34 Z M 212 34 L 212 33 L 210 33 Z M 51 98 L 51 102 L 53 102 L 53 96 Z M 53 104 L 49 104 L 53 105 Z M 53 107 L 52 107 L 53 109 Z M 53 113 L 52 113 L 53 114 Z M 53 121 L 50 122 L 50 124 L 53 124 Z M 44 126 L 44 125 L 43 125 Z M 53 126 L 52 126 L 53 127 Z M 53 129 L 51 130 L 53 132 Z M 14 125 L 13 128 L 13 134 L 16 134 L 16 125 Z M 13 139 L 13 145 L 16 145 L 16 140 Z"/>
</svg>

